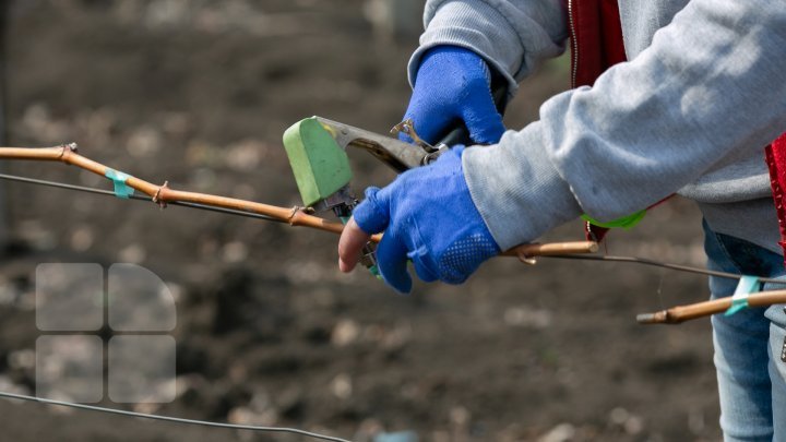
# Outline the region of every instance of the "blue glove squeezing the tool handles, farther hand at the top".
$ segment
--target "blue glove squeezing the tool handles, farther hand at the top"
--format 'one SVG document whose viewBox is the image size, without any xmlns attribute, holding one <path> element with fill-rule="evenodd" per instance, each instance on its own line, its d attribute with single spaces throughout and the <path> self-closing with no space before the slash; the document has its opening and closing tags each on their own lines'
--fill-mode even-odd
<svg viewBox="0 0 786 442">
<path fill-rule="evenodd" d="M 491 96 L 491 71 L 477 53 L 457 46 L 437 46 L 422 56 L 404 119 L 433 144 L 457 121 L 478 144 L 493 144 L 504 133 L 502 116 Z M 403 141 L 412 139 L 401 134 Z"/>
</svg>

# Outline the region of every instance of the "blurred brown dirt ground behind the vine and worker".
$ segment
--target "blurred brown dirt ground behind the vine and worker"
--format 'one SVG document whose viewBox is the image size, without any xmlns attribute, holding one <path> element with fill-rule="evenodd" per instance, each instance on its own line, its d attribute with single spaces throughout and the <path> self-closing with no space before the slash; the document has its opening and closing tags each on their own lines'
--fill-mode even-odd
<svg viewBox="0 0 786 442">
<path fill-rule="evenodd" d="M 12 145 L 75 141 L 153 182 L 286 206 L 298 195 L 284 130 L 320 115 L 386 131 L 406 106 L 416 46 L 376 38 L 360 0 L 20 0 L 9 26 Z M 544 67 L 509 127 L 536 118 L 565 79 L 564 60 Z M 393 177 L 353 159 L 358 190 Z M 2 166 L 108 188 L 62 165 Z M 418 285 L 400 297 L 364 272 L 340 274 L 327 234 L 5 189 L 13 241 L 0 263 L 0 390 L 34 391 L 37 264 L 134 262 L 170 284 L 178 309 L 178 398 L 140 409 L 357 441 L 400 430 L 421 441 L 719 438 L 708 322 L 634 321 L 706 298 L 702 277 L 499 259 L 464 286 Z M 677 200 L 608 248 L 702 265 L 700 230 L 699 213 Z M 549 236 L 580 237 L 579 224 Z M 8 441 L 302 440 L 7 401 L 0 416 Z"/>
</svg>

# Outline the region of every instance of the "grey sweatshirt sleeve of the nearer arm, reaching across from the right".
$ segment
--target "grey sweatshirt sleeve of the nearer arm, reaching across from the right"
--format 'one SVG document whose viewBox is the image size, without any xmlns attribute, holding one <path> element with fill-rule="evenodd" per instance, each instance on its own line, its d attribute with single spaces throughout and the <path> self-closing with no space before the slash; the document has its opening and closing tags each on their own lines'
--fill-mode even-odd
<svg viewBox="0 0 786 442">
<path fill-rule="evenodd" d="M 786 130 L 786 9 L 693 0 L 633 61 L 559 94 L 499 144 L 465 151 L 473 201 L 504 250 L 581 213 L 640 211 Z"/>
</svg>

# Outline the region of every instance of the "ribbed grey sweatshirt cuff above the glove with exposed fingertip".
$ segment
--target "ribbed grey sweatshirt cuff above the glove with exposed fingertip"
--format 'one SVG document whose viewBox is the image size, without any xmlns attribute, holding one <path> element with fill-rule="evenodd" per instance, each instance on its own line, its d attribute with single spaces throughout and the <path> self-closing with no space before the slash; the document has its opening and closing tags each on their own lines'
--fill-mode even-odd
<svg viewBox="0 0 786 442">
<path fill-rule="evenodd" d="M 549 159 L 539 122 L 508 131 L 499 144 L 464 151 L 473 202 L 502 250 L 532 242 L 582 210 Z"/>
</svg>

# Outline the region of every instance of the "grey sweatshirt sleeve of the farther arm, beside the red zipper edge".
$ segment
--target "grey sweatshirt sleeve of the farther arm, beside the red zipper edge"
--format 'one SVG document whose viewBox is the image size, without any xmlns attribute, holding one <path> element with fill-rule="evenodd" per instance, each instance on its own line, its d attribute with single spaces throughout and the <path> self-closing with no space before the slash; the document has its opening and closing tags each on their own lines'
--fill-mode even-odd
<svg viewBox="0 0 786 442">
<path fill-rule="evenodd" d="M 559 0 L 429 0 L 426 32 L 409 60 L 414 85 L 422 53 L 440 45 L 461 46 L 480 55 L 509 82 L 517 82 L 545 59 L 564 51 L 567 12 Z"/>
</svg>

